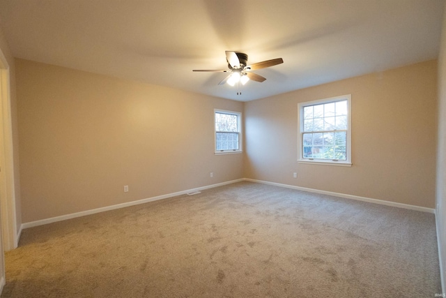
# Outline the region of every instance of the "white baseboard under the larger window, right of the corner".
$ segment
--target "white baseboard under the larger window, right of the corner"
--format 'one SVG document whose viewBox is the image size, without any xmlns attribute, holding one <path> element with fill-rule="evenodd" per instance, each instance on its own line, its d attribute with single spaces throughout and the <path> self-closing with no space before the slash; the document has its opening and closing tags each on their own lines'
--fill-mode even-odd
<svg viewBox="0 0 446 298">
<path fill-rule="evenodd" d="M 369 203 L 374 203 L 374 204 L 381 204 L 381 205 L 386 205 L 386 206 L 391 206 L 391 207 L 411 209 L 411 210 L 423 211 L 423 212 L 429 212 L 429 213 L 435 214 L 435 209 L 433 209 L 433 208 L 426 208 L 426 207 L 420 207 L 420 206 L 415 206 L 415 205 L 410 205 L 410 204 L 403 204 L 403 203 L 397 203 L 397 202 L 365 198 L 365 197 L 360 197 L 357 195 L 346 195 L 344 193 L 333 193 L 332 191 L 319 191 L 318 189 L 314 189 L 314 188 L 305 188 L 305 187 L 300 187 L 300 186 L 293 186 L 293 185 L 289 185 L 289 184 L 280 184 L 280 183 L 262 181 L 262 180 L 256 180 L 256 179 L 245 178 L 243 180 L 261 183 L 261 184 L 280 186 L 280 187 L 285 187 L 285 188 L 292 188 L 292 189 L 297 189 L 298 191 L 308 191 L 309 193 L 321 193 L 323 195 L 332 195 L 332 196 L 338 197 L 338 198 L 346 198 L 346 199 L 357 200 L 357 201 L 362 201 L 362 202 L 369 202 Z"/>
</svg>

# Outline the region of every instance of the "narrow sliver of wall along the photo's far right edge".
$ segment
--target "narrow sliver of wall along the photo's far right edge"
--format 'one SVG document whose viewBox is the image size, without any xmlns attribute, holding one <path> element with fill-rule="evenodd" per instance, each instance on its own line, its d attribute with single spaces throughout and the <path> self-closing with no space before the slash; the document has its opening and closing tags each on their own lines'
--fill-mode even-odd
<svg viewBox="0 0 446 298">
<path fill-rule="evenodd" d="M 444 11 L 446 15 L 446 7 Z M 446 288 L 446 20 L 443 18 L 438 57 L 438 161 L 437 161 L 437 232 L 442 269 L 443 292 Z"/>
</svg>

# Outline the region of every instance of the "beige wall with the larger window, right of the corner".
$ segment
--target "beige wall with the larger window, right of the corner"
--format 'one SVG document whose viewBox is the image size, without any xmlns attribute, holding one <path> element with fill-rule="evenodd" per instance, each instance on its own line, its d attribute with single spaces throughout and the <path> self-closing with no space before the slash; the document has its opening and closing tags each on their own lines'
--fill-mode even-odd
<svg viewBox="0 0 446 298">
<path fill-rule="evenodd" d="M 246 103 L 244 176 L 434 208 L 436 66 L 427 61 Z M 352 96 L 353 166 L 298 163 L 298 103 L 344 94 Z"/>
</svg>

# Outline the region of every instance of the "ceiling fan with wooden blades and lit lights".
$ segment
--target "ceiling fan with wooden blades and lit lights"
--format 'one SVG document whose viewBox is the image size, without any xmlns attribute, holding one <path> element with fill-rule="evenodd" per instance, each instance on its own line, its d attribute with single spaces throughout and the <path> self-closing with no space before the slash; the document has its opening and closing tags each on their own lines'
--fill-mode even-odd
<svg viewBox="0 0 446 298">
<path fill-rule="evenodd" d="M 251 73 L 251 70 L 267 68 L 270 66 L 275 66 L 277 64 L 284 63 L 284 60 L 282 58 L 277 58 L 247 65 L 248 61 L 247 54 L 240 52 L 232 52 L 232 51 L 226 51 L 226 61 L 228 62 L 229 70 L 194 69 L 192 71 L 231 73 L 218 84 L 222 85 L 228 83 L 231 86 L 233 86 L 237 82 L 246 84 L 247 81 L 249 80 L 253 80 L 256 82 L 263 82 L 264 80 L 266 80 L 266 77 L 262 77 L 261 75 L 257 75 L 256 73 Z"/>
</svg>

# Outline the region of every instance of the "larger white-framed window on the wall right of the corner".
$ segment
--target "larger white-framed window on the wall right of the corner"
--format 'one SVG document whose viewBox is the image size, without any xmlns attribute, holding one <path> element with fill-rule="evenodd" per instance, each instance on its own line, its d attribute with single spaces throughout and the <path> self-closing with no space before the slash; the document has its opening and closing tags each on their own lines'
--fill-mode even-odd
<svg viewBox="0 0 446 298">
<path fill-rule="evenodd" d="M 299 161 L 351 166 L 351 95 L 299 103 Z"/>
</svg>

